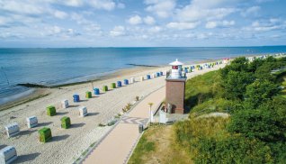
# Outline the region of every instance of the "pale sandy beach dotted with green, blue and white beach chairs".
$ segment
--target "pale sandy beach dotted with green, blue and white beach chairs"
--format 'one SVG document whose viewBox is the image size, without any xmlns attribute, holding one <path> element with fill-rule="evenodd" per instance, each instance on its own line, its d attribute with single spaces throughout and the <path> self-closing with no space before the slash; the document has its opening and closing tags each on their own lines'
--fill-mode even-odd
<svg viewBox="0 0 286 164">
<path fill-rule="evenodd" d="M 224 64 L 214 68 L 195 70 L 188 73 L 188 76 L 195 76 L 211 70 L 224 67 Z M 135 77 L 136 82 L 121 88 L 115 88 L 99 97 L 85 98 L 86 91 L 92 91 L 92 84 L 86 83 L 70 87 L 49 88 L 49 96 L 44 96 L 31 102 L 14 106 L 0 112 L 0 147 L 12 145 L 16 148 L 19 158 L 16 163 L 73 163 L 92 144 L 100 140 L 112 126 L 98 126 L 99 123 L 108 123 L 114 116 L 122 112 L 122 108 L 132 103 L 136 96 L 147 96 L 154 90 L 165 86 L 165 76 L 156 77 L 151 80 L 139 81 L 139 77 L 152 74 L 157 71 L 169 70 L 170 67 L 160 68 L 135 68 L 118 72 L 112 77 L 104 78 L 94 82 L 94 87 L 102 89 L 104 85 L 111 86 L 112 82 L 130 80 Z M 73 95 L 77 93 L 81 98 L 80 103 L 73 102 Z M 70 107 L 62 109 L 60 101 L 67 99 Z M 48 116 L 46 107 L 55 105 L 56 116 Z M 89 115 L 78 116 L 78 107 L 86 106 Z M 39 125 L 29 130 L 26 125 L 26 117 L 35 115 L 38 117 Z M 60 118 L 69 116 L 72 122 L 70 129 L 61 129 Z M 4 133 L 4 126 L 9 123 L 19 123 L 21 132 L 13 138 L 7 138 Z M 42 127 L 51 129 L 53 140 L 48 143 L 40 143 L 38 130 Z"/>
</svg>

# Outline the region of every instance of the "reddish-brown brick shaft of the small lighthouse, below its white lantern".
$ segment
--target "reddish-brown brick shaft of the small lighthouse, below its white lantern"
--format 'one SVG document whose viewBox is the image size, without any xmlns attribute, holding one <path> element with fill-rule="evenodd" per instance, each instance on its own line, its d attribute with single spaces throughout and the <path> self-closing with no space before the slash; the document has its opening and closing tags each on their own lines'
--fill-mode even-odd
<svg viewBox="0 0 286 164">
<path fill-rule="evenodd" d="M 166 79 L 165 105 L 173 105 L 173 113 L 175 114 L 183 114 L 184 85 L 184 80 Z"/>
</svg>

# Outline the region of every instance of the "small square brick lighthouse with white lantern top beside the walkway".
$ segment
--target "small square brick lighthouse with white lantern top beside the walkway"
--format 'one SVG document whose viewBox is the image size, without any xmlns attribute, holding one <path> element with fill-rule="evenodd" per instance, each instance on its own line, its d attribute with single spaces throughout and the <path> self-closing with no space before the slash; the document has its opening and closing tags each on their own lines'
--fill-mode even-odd
<svg viewBox="0 0 286 164">
<path fill-rule="evenodd" d="M 172 66 L 172 69 L 165 78 L 165 105 L 169 113 L 183 114 L 186 81 L 186 77 L 182 76 L 183 63 L 176 59 L 169 65 Z"/>
</svg>

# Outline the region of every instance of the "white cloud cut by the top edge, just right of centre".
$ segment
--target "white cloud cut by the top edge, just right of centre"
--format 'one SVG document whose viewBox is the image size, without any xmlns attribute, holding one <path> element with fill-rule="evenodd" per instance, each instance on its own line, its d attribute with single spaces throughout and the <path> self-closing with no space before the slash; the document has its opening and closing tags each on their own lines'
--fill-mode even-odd
<svg viewBox="0 0 286 164">
<path fill-rule="evenodd" d="M 160 18 L 166 18 L 173 14 L 175 7 L 175 0 L 146 0 L 148 5 L 146 10 L 156 14 Z"/>
</svg>

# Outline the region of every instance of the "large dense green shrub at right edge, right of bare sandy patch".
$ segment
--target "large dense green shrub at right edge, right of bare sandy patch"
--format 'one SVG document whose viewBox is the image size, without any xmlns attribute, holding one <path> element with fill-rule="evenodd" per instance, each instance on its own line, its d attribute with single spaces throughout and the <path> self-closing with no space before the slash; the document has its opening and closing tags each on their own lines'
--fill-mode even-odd
<svg viewBox="0 0 286 164">
<path fill-rule="evenodd" d="M 228 131 L 261 141 L 286 140 L 286 101 L 275 98 L 257 109 L 238 110 L 231 116 Z"/>
</svg>

